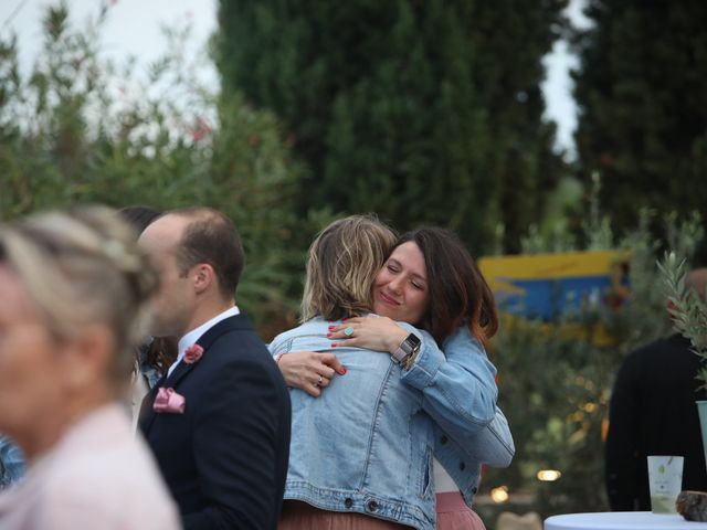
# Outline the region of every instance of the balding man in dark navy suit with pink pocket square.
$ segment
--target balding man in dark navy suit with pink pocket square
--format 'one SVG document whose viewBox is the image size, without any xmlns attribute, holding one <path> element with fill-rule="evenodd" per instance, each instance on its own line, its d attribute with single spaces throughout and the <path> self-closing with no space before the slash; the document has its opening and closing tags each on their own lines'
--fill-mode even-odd
<svg viewBox="0 0 707 530">
<path fill-rule="evenodd" d="M 180 338 L 177 361 L 143 403 L 140 428 L 183 526 L 274 529 L 289 396 L 235 306 L 244 264 L 235 226 L 214 210 L 178 210 L 150 224 L 139 243 L 162 279 L 151 333 Z"/>
</svg>

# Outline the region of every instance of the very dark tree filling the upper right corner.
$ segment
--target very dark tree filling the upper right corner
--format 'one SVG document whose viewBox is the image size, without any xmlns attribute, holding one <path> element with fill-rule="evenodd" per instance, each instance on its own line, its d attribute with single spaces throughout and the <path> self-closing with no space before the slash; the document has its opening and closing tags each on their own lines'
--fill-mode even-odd
<svg viewBox="0 0 707 530">
<path fill-rule="evenodd" d="M 707 3 L 589 0 L 574 72 L 582 176 L 599 170 L 616 225 L 641 208 L 700 209 L 707 199 Z"/>
</svg>

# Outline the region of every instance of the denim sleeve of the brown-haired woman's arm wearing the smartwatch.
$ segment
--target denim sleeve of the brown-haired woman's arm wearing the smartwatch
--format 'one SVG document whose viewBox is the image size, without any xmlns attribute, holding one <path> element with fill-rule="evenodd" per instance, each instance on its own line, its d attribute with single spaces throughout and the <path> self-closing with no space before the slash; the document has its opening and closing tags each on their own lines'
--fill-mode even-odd
<svg viewBox="0 0 707 530">
<path fill-rule="evenodd" d="M 420 352 L 402 380 L 422 391 L 424 410 L 464 447 L 495 417 L 496 368 L 465 326 L 444 341 L 444 353 L 429 333 L 418 335 Z"/>
</svg>

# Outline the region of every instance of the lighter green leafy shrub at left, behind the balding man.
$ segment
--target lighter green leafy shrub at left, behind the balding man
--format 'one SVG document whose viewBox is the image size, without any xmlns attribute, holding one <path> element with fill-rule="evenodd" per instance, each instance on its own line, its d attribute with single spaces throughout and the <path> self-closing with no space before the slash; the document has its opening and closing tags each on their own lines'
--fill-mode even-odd
<svg viewBox="0 0 707 530">
<path fill-rule="evenodd" d="M 194 85 L 187 29 L 147 82 L 99 57 L 98 32 L 49 8 L 44 45 L 22 75 L 0 42 L 0 216 L 77 202 L 173 209 L 204 204 L 233 219 L 247 266 L 239 300 L 264 337 L 294 321 L 304 250 L 315 221 L 295 214 L 297 165 L 275 117 L 238 95 Z M 305 234 L 305 235 L 302 235 Z"/>
</svg>

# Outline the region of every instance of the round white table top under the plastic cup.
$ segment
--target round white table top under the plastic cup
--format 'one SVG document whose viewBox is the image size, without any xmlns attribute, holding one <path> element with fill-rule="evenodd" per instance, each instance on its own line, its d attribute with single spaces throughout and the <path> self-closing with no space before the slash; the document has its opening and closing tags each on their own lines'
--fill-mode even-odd
<svg viewBox="0 0 707 530">
<path fill-rule="evenodd" d="M 707 522 L 686 521 L 677 513 L 609 511 L 548 517 L 545 530 L 707 530 Z"/>
</svg>

